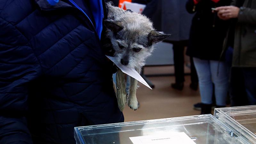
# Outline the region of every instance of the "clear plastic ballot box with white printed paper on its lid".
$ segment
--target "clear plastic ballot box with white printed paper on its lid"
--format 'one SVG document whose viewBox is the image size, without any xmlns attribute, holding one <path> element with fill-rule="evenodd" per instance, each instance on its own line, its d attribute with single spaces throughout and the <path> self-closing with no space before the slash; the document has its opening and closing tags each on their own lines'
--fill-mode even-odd
<svg viewBox="0 0 256 144">
<path fill-rule="evenodd" d="M 244 144 L 212 115 L 75 127 L 77 144 Z"/>
</svg>

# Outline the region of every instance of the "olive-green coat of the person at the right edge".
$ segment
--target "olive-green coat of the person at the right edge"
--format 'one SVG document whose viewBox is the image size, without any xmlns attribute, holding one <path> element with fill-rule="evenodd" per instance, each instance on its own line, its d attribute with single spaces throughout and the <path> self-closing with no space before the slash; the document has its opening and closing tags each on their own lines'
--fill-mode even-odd
<svg viewBox="0 0 256 144">
<path fill-rule="evenodd" d="M 256 0 L 245 0 L 240 8 L 234 41 L 233 67 L 256 67 Z"/>
</svg>

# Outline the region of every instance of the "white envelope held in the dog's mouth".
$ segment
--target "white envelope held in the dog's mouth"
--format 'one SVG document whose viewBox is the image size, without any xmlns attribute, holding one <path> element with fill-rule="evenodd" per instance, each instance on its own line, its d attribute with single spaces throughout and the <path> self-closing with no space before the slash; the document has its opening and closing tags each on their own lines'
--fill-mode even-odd
<svg viewBox="0 0 256 144">
<path fill-rule="evenodd" d="M 137 81 L 139 81 L 141 84 L 144 84 L 146 85 L 148 88 L 150 88 L 152 90 L 152 88 L 148 85 L 148 83 L 140 76 L 140 74 L 135 70 L 135 69 L 132 69 L 132 68 L 128 68 L 118 62 L 116 62 L 115 58 L 114 57 L 110 57 L 108 55 L 106 55 L 111 61 L 113 61 L 116 66 L 118 68 L 120 68 L 122 70 L 123 73 L 135 78 Z"/>
</svg>

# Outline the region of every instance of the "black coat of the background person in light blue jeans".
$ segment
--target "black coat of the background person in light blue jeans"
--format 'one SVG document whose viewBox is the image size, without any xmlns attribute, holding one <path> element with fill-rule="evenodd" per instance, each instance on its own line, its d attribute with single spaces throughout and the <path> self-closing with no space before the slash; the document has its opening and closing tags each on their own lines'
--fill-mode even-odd
<svg viewBox="0 0 256 144">
<path fill-rule="evenodd" d="M 230 5 L 231 0 L 201 0 L 194 4 L 188 0 L 189 13 L 196 13 L 192 20 L 187 55 L 203 60 L 219 60 L 229 21 L 220 20 L 211 8 Z"/>
</svg>

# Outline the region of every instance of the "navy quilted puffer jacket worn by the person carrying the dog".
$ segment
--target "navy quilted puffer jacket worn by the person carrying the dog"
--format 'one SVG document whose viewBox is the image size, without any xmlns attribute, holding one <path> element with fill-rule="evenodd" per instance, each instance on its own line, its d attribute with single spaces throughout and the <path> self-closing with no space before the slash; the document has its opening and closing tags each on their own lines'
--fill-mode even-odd
<svg viewBox="0 0 256 144">
<path fill-rule="evenodd" d="M 77 8 L 1 0 L 0 143 L 74 144 L 76 126 L 123 122 L 109 65 Z"/>
</svg>

